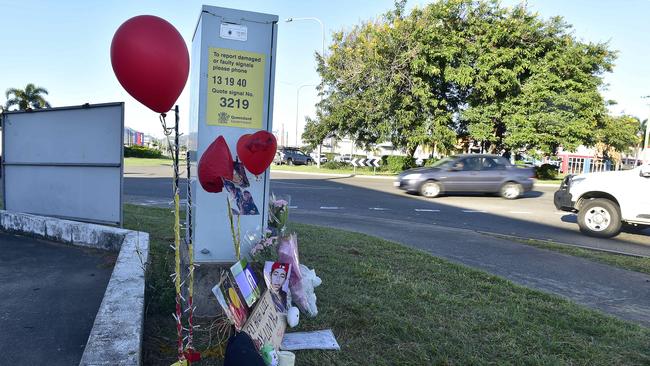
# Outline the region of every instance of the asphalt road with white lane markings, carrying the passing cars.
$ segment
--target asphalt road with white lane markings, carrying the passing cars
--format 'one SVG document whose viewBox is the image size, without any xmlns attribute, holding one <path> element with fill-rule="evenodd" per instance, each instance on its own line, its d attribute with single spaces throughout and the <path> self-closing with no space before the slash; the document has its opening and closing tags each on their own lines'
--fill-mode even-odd
<svg viewBox="0 0 650 366">
<path fill-rule="evenodd" d="M 169 168 L 127 171 L 126 201 L 165 205 L 171 202 Z M 271 191 L 291 196 L 293 214 L 310 219 L 326 213 L 345 215 L 354 228 L 358 219 L 397 220 L 404 231 L 411 224 L 435 225 L 511 235 L 650 257 L 650 229 L 623 232 L 612 239 L 580 233 L 576 215 L 553 206 L 555 187 L 536 187 L 517 200 L 473 194 L 426 199 L 404 193 L 390 179 L 332 177 L 273 172 Z M 185 182 L 181 193 L 184 197 Z"/>
</svg>

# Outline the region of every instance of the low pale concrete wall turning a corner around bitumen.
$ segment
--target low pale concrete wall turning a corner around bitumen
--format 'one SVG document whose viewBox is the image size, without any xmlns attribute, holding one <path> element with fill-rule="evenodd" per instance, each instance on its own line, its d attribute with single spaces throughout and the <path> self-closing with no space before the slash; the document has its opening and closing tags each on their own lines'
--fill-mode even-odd
<svg viewBox="0 0 650 366">
<path fill-rule="evenodd" d="M 0 230 L 119 251 L 80 365 L 140 365 L 148 233 L 4 210 Z"/>
</svg>

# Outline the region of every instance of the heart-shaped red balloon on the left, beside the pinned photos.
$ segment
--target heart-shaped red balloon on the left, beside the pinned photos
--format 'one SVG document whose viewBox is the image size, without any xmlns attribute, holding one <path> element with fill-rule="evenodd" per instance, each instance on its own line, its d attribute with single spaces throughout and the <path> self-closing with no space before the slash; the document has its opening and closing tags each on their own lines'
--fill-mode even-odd
<svg viewBox="0 0 650 366">
<path fill-rule="evenodd" d="M 199 159 L 199 183 L 208 192 L 223 190 L 223 179 L 232 180 L 234 164 L 223 136 L 217 137 Z"/>
</svg>

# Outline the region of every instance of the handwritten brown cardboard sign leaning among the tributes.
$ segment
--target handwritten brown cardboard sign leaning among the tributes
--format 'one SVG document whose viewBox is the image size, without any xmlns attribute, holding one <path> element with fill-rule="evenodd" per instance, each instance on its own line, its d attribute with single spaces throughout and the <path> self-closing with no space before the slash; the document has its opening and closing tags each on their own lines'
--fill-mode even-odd
<svg viewBox="0 0 650 366">
<path fill-rule="evenodd" d="M 279 349 L 286 328 L 286 317 L 275 310 L 271 293 L 266 290 L 242 331 L 251 336 L 259 351 L 266 343 L 271 343 L 275 349 Z"/>
</svg>

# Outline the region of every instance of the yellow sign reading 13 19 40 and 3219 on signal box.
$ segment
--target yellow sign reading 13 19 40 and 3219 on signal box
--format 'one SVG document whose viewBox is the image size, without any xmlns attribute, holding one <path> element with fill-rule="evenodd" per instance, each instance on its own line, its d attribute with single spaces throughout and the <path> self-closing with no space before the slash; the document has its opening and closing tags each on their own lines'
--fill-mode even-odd
<svg viewBox="0 0 650 366">
<path fill-rule="evenodd" d="M 206 123 L 211 126 L 261 129 L 264 55 L 210 47 L 208 58 Z"/>
</svg>

